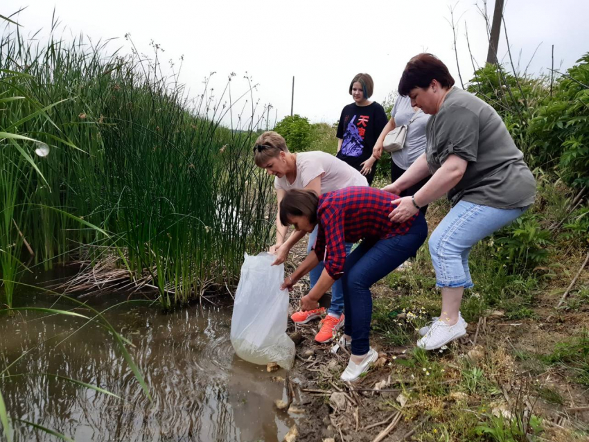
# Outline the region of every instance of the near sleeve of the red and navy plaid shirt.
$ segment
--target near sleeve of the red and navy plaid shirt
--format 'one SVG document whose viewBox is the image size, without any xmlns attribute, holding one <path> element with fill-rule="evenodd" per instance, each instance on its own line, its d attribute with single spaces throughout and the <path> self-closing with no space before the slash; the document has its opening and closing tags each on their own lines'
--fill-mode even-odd
<svg viewBox="0 0 589 442">
<path fill-rule="evenodd" d="M 326 207 L 319 214 L 319 230 L 315 253 L 324 261 L 325 269 L 333 279 L 340 279 L 346 263 L 346 239 L 344 238 L 344 213 L 336 207 Z"/>
</svg>

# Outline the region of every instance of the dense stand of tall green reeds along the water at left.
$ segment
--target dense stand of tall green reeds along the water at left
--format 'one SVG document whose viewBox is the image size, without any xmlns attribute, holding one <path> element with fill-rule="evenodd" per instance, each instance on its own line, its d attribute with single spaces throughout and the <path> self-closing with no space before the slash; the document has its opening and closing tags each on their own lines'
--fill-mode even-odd
<svg viewBox="0 0 589 442">
<path fill-rule="evenodd" d="M 209 90 L 189 100 L 177 76 L 162 75 L 156 45 L 145 60 L 83 37 L 52 34 L 42 46 L 9 30 L 0 69 L 17 74 L 0 80 L 0 98 L 26 99 L 3 103 L 0 132 L 50 152 L 27 164 L 0 137 L 1 197 L 13 202 L 3 206 L 0 245 L 26 239 L 46 269 L 100 246 L 94 259 L 116 253 L 131 278 L 150 274 L 166 307 L 235 283 L 243 252 L 268 242 L 274 208 L 249 152 L 254 105 L 239 127 L 221 125 L 235 104 L 231 77 L 216 101 Z M 19 146 L 35 157 L 36 143 Z M 0 258 L 5 281 L 23 271 L 20 258 L 16 248 L 6 265 Z"/>
</svg>

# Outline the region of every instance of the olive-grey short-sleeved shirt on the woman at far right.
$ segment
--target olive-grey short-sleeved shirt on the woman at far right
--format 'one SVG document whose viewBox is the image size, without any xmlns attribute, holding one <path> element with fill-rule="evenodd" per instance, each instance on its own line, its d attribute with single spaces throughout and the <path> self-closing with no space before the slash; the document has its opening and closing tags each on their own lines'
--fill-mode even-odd
<svg viewBox="0 0 589 442">
<path fill-rule="evenodd" d="M 425 150 L 433 174 L 455 154 L 468 161 L 458 184 L 448 192 L 452 206 L 460 200 L 514 209 L 529 206 L 536 180 L 493 107 L 453 87 L 426 127 Z"/>
</svg>

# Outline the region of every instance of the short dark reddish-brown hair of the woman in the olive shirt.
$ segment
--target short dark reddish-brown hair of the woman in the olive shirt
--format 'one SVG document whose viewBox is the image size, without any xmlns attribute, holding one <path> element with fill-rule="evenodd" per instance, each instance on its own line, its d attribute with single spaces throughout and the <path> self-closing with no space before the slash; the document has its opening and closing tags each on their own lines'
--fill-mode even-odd
<svg viewBox="0 0 589 442">
<path fill-rule="evenodd" d="M 399 82 L 399 95 L 408 96 L 411 89 L 416 87 L 426 89 L 432 84 L 432 80 L 438 80 L 442 87 L 454 86 L 454 78 L 439 58 L 430 53 L 415 55 L 405 66 Z"/>
</svg>

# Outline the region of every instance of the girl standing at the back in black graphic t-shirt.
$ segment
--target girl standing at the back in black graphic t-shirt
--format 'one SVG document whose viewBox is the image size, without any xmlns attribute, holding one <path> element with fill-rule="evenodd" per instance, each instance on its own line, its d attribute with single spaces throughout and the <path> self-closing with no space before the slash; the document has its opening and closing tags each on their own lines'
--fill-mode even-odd
<svg viewBox="0 0 589 442">
<path fill-rule="evenodd" d="M 374 83 L 367 73 L 358 73 L 350 83 L 349 94 L 354 99 L 342 110 L 337 126 L 337 158 L 360 170 L 372 184 L 376 171 L 376 158 L 372 148 L 380 132 L 388 122 L 383 106 L 368 98 L 372 95 Z"/>
</svg>

